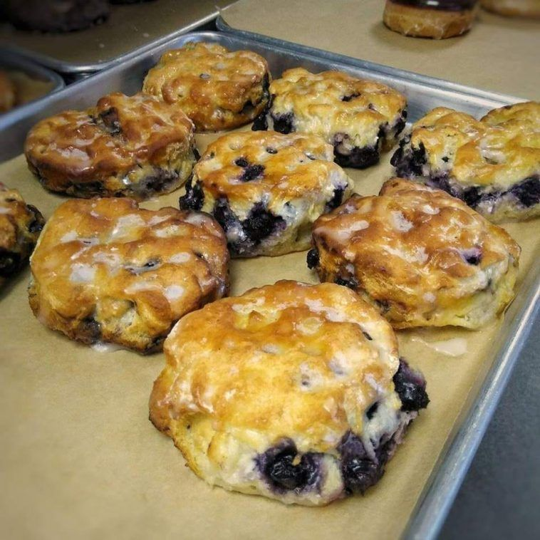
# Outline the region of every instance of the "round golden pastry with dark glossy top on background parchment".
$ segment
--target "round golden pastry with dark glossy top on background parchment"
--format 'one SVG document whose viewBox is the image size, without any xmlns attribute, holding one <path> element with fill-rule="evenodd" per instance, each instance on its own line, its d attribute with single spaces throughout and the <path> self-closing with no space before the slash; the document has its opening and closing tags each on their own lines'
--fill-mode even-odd
<svg viewBox="0 0 540 540">
<path fill-rule="evenodd" d="M 405 36 L 445 39 L 467 32 L 477 0 L 386 0 L 383 21 Z"/>
</svg>

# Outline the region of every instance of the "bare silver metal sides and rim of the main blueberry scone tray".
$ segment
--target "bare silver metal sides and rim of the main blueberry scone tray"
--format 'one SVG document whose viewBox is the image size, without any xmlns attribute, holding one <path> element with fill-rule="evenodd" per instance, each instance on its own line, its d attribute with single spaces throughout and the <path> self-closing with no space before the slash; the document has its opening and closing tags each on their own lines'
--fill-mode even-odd
<svg viewBox="0 0 540 540">
<path fill-rule="evenodd" d="M 125 62 L 102 71 L 85 81 L 48 96 L 40 103 L 26 108 L 24 118 L 4 130 L 4 140 L 13 141 L 9 151 L 20 153 L 26 130 L 37 120 L 66 108 L 85 108 L 101 95 L 113 90 L 134 93 L 140 89 L 142 78 L 160 55 L 169 48 L 182 46 L 186 41 L 214 41 L 231 49 L 249 48 L 269 61 L 274 76 L 287 68 L 303 66 L 311 71 L 339 69 L 356 76 L 388 83 L 407 95 L 409 120 L 416 120 L 437 105 L 446 105 L 473 115 L 515 103 L 516 98 L 489 93 L 454 83 L 447 83 L 405 71 L 378 66 L 353 58 L 321 53 L 293 43 L 269 43 L 230 33 L 189 33 L 152 48 Z M 6 149 L 1 148 L 6 157 Z M 537 266 L 537 265 L 536 265 Z M 469 393 L 462 415 L 442 448 L 438 463 L 418 499 L 405 536 L 417 539 L 433 538 L 447 514 L 462 482 L 479 441 L 482 439 L 494 408 L 507 383 L 509 374 L 526 341 L 527 333 L 539 309 L 540 269 L 534 268 L 518 291 L 516 300 L 507 312 L 497 343 L 491 349 L 493 360 L 477 378 L 476 388 Z M 429 379 L 428 379 L 429 385 Z M 375 488 L 376 489 L 376 488 Z"/>
</svg>

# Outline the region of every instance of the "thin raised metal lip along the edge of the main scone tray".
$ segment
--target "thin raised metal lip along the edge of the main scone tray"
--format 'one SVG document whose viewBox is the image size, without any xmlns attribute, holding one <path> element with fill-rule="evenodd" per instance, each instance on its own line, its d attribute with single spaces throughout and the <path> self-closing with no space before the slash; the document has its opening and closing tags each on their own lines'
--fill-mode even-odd
<svg viewBox="0 0 540 540">
<path fill-rule="evenodd" d="M 335 64 L 336 67 L 341 65 L 343 68 L 350 66 L 353 68 L 376 71 L 387 76 L 394 76 L 395 78 L 405 78 L 421 85 L 427 85 L 430 88 L 450 90 L 464 96 L 470 95 L 471 98 L 481 98 L 487 102 L 492 101 L 498 105 L 520 101 L 519 98 L 509 95 L 492 93 L 486 90 L 477 90 L 476 88 L 457 83 L 450 83 L 449 81 L 444 81 L 442 79 L 397 70 L 388 66 L 361 61 L 348 56 L 319 51 L 315 48 L 306 46 L 297 47 L 294 43 L 286 41 L 280 40 L 279 43 L 275 43 L 272 41 L 273 38 L 263 39 L 259 38 L 257 34 L 253 34 L 252 36 L 244 34 L 237 36 L 234 32 L 224 31 L 182 33 L 181 35 L 174 36 L 169 41 L 155 45 L 148 50 L 137 51 L 137 53 L 130 56 L 127 61 L 133 62 L 143 53 L 159 53 L 161 47 L 167 46 L 170 41 L 175 41 L 178 38 L 182 38 L 185 41 L 188 41 L 190 38 L 201 41 L 204 38 L 219 39 L 223 36 L 242 40 L 244 44 L 248 46 L 250 43 L 264 43 L 281 52 L 294 53 L 296 51 L 296 53 L 299 53 L 306 58 L 313 58 L 318 61 L 321 61 L 321 59 L 330 61 Z M 173 44 L 170 43 L 170 45 Z M 174 43 L 174 46 L 178 46 L 178 43 Z M 31 106 L 32 110 L 27 113 L 27 117 L 39 113 L 39 110 L 41 110 L 45 104 L 44 102 L 52 104 L 53 101 L 61 100 L 64 95 L 68 95 L 69 93 L 76 93 L 78 90 L 83 92 L 85 85 L 88 85 L 91 81 L 108 77 L 111 73 L 110 70 L 114 68 L 115 66 L 111 66 L 111 68 L 100 71 L 88 79 L 73 83 L 55 95 L 48 95 L 43 100 L 39 100 L 38 103 L 33 103 Z M 516 309 L 512 309 L 514 306 L 516 306 Z M 507 321 L 509 321 L 509 323 L 503 327 L 503 331 L 499 336 L 500 347 L 497 349 L 497 354 L 493 363 L 487 371 L 482 384 L 479 385 L 479 389 L 475 389 L 477 390 L 477 395 L 469 401 L 468 409 L 464 410 L 464 413 L 457 421 L 459 425 L 452 431 L 448 437 L 447 444 L 442 448 L 439 460 L 410 515 L 410 519 L 403 532 L 404 538 L 419 540 L 434 539 L 437 536 L 438 531 L 440 531 L 452 502 L 455 499 L 457 490 L 462 484 L 467 469 L 469 468 L 469 464 L 472 462 L 472 458 L 476 453 L 479 442 L 482 440 L 487 425 L 489 425 L 495 407 L 497 407 L 497 403 L 502 396 L 516 360 L 519 358 L 519 352 L 521 351 L 521 348 L 523 348 L 529 334 L 532 326 L 531 323 L 540 311 L 540 266 L 535 272 L 531 272 L 524 283 L 521 284 L 514 300 L 514 304 L 510 308 L 510 312 L 512 311 L 516 311 L 516 313 L 512 313 L 514 318 L 511 321 L 509 321 L 507 316 Z M 499 343 L 499 341 L 497 343 Z"/>
</svg>

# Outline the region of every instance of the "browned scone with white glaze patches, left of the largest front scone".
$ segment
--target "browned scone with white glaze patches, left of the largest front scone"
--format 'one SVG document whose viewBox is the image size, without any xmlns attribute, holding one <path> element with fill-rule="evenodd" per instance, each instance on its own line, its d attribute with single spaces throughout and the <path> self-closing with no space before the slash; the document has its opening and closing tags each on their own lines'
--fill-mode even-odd
<svg viewBox="0 0 540 540">
<path fill-rule="evenodd" d="M 31 257 L 30 306 L 71 339 L 151 353 L 180 317 L 227 293 L 228 261 L 221 227 L 202 212 L 71 199 Z"/>
</svg>

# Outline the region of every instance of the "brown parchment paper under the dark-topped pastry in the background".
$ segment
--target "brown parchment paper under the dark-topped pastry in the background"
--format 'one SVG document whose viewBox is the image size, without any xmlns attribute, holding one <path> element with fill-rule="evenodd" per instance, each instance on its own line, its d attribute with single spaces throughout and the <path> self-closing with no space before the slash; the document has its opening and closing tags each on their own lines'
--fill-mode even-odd
<svg viewBox="0 0 540 540">
<path fill-rule="evenodd" d="M 410 38 L 383 24 L 384 0 L 239 0 L 233 28 L 528 99 L 540 98 L 540 21 L 479 11 L 456 38 Z"/>
</svg>

